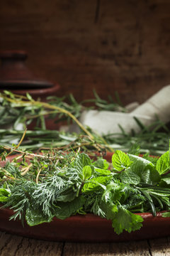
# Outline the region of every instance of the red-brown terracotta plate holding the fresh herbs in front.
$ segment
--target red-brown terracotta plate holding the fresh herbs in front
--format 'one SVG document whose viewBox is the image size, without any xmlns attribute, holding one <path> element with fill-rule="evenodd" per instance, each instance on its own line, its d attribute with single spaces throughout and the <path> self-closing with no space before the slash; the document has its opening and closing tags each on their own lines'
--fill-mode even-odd
<svg viewBox="0 0 170 256">
<path fill-rule="evenodd" d="M 107 154 L 107 160 L 111 161 Z M 12 157 L 11 157 L 12 159 Z M 5 163 L 3 163 L 5 164 Z M 1 162 L 1 166 L 3 165 Z M 140 230 L 132 233 L 123 232 L 117 235 L 110 220 L 93 214 L 75 215 L 66 220 L 54 218 L 51 223 L 42 223 L 34 227 L 19 220 L 9 220 L 13 210 L 0 208 L 0 230 L 29 238 L 70 242 L 117 242 L 160 238 L 170 235 L 170 218 L 163 218 L 162 213 L 153 217 L 151 213 L 137 213 L 144 218 Z"/>
</svg>

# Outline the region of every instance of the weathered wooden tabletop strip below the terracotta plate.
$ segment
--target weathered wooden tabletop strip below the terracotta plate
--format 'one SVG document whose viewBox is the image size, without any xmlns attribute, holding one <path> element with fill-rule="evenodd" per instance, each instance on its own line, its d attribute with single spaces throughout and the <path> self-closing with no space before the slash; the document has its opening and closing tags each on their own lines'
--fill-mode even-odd
<svg viewBox="0 0 170 256">
<path fill-rule="evenodd" d="M 0 232 L 1 256 L 170 256 L 170 237 L 132 242 L 50 242 Z"/>
</svg>

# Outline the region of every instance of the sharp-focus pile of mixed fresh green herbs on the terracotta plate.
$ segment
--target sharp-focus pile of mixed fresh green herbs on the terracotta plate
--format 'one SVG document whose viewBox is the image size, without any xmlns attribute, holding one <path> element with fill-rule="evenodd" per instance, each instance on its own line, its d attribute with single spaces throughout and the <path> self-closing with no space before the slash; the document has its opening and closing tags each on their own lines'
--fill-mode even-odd
<svg viewBox="0 0 170 256">
<path fill-rule="evenodd" d="M 1 160 L 13 151 L 20 154 L 0 169 L 0 201 L 13 209 L 11 219 L 33 226 L 94 213 L 111 220 L 120 234 L 142 227 L 135 213 L 166 210 L 162 216 L 170 217 L 170 151 L 157 158 L 117 150 L 108 163 L 80 148 L 35 154 L 1 146 Z"/>
</svg>

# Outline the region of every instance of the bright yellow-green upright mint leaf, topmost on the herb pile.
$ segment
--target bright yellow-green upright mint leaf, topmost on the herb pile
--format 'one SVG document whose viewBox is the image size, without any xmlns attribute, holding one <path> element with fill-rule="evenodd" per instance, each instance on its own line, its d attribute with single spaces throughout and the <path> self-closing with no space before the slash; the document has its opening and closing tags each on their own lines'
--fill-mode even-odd
<svg viewBox="0 0 170 256">
<path fill-rule="evenodd" d="M 115 154 L 112 156 L 112 164 L 116 170 L 122 171 L 130 166 L 132 162 L 127 154 L 125 154 L 123 151 L 116 150 Z"/>
</svg>

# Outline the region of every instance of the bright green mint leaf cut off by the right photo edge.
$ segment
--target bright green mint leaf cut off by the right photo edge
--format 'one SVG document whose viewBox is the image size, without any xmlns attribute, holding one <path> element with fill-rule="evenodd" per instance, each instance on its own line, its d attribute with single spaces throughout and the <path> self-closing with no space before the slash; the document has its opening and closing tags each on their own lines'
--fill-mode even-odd
<svg viewBox="0 0 170 256">
<path fill-rule="evenodd" d="M 165 174 L 166 171 L 170 169 L 170 159 L 169 159 L 169 151 L 166 151 L 160 158 L 157 160 L 157 171 L 159 174 Z"/>
</svg>

